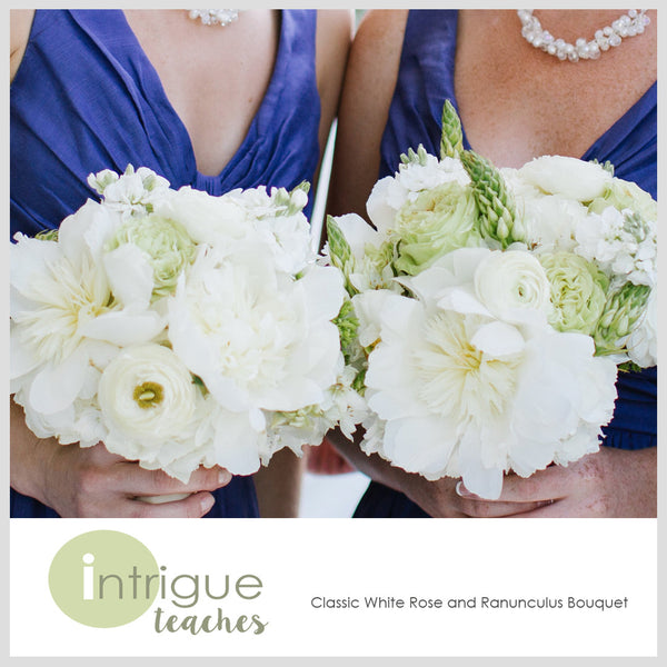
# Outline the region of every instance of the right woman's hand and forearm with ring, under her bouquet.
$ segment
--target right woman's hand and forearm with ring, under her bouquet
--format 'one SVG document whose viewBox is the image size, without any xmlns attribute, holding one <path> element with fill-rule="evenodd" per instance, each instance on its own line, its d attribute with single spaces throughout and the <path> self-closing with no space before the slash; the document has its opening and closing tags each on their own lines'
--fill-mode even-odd
<svg viewBox="0 0 667 667">
<path fill-rule="evenodd" d="M 409 479 L 408 496 L 437 517 L 655 517 L 657 450 L 601 447 L 579 461 L 550 466 L 528 478 L 505 477 L 497 500 L 470 494 L 454 479 Z M 414 476 L 410 476 L 414 477 Z"/>
</svg>

